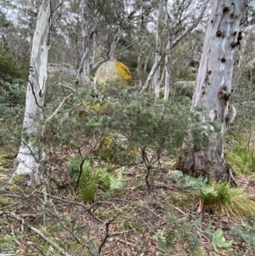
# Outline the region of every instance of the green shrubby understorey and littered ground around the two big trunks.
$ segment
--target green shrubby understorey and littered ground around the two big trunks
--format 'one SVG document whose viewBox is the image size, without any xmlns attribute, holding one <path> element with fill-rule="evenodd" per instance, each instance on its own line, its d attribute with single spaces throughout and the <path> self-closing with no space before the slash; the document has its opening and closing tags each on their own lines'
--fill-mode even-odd
<svg viewBox="0 0 255 256">
<path fill-rule="evenodd" d="M 233 128 L 228 135 L 227 156 L 238 167 L 239 187 L 193 178 L 175 169 L 188 131 L 198 148 L 207 139 L 199 125 L 203 110 L 190 116 L 188 97 L 155 100 L 139 88 L 112 83 L 97 97 L 80 88 L 51 117 L 70 93 L 53 84 L 58 92 L 46 95 L 47 161 L 40 184 L 27 186 L 19 175 L 8 184 L 22 124 L 10 118 L 22 109 L 18 82 L 6 93 L 16 105 L 4 105 L 1 119 L 1 252 L 252 253 L 252 134 Z"/>
</svg>

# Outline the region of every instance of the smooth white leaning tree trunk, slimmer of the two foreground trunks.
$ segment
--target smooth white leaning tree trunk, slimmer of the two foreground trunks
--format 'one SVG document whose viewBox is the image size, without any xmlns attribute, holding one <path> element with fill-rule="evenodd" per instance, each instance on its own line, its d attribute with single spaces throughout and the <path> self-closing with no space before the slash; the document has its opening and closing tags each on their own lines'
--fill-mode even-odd
<svg viewBox="0 0 255 256">
<path fill-rule="evenodd" d="M 42 0 L 31 48 L 30 75 L 26 91 L 23 136 L 17 156 L 16 174 L 37 175 L 44 156 L 41 141 L 43 103 L 47 81 L 49 37 L 58 0 Z"/>
</svg>

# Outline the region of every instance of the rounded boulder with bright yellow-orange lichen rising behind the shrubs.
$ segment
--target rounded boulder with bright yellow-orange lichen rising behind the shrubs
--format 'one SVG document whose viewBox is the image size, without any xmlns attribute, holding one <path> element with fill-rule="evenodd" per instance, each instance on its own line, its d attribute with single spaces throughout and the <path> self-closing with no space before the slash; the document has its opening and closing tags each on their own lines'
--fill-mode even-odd
<svg viewBox="0 0 255 256">
<path fill-rule="evenodd" d="M 108 60 L 99 66 L 95 73 L 96 82 L 104 86 L 116 82 L 119 86 L 127 86 L 132 82 L 132 77 L 127 66 L 117 60 Z"/>
</svg>

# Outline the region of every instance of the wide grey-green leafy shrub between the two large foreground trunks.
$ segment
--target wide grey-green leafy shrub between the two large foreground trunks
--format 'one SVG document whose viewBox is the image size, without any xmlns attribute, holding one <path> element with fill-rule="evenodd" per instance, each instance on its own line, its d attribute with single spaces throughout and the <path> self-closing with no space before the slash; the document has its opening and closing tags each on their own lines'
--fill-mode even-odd
<svg viewBox="0 0 255 256">
<path fill-rule="evenodd" d="M 190 99 L 155 100 L 152 93 L 138 91 L 137 87 L 111 84 L 93 97 L 91 89 L 79 89 L 49 122 L 50 140 L 56 139 L 59 145 L 71 145 L 73 149 L 88 147 L 93 142 L 95 150 L 100 139 L 121 134 L 130 147 L 154 159 L 158 160 L 163 151 L 176 154 L 186 133 Z"/>
</svg>

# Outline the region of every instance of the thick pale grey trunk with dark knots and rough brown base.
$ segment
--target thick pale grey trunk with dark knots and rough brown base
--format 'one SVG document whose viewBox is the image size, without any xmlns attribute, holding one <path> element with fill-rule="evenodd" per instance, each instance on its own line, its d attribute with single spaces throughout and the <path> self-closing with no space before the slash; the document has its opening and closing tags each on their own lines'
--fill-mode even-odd
<svg viewBox="0 0 255 256">
<path fill-rule="evenodd" d="M 207 114 L 201 116 L 207 140 L 197 148 L 194 138 L 187 138 L 178 166 L 185 173 L 235 183 L 224 159 L 224 135 L 229 125 L 234 52 L 240 47 L 247 3 L 248 0 L 213 0 L 191 107 L 191 111 L 195 107 L 207 109 Z M 213 129 L 212 122 L 218 123 L 220 132 Z"/>
</svg>

